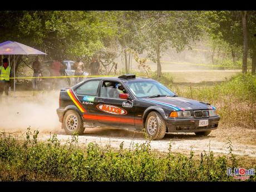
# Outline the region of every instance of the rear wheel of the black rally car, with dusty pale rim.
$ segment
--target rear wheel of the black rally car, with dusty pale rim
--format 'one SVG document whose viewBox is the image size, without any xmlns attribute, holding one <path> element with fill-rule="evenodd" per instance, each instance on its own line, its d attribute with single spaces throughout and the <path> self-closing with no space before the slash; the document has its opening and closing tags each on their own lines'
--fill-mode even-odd
<svg viewBox="0 0 256 192">
<path fill-rule="evenodd" d="M 65 113 L 62 121 L 62 128 L 68 135 L 72 135 L 75 132 L 77 132 L 78 135 L 81 135 L 83 134 L 83 131 L 85 131 L 82 117 L 74 110 L 68 110 Z"/>
</svg>

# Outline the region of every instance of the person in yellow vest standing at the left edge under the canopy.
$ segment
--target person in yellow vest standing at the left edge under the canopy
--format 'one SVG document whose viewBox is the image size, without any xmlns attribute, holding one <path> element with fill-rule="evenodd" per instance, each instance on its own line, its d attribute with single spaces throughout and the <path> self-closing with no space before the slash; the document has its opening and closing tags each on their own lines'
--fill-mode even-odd
<svg viewBox="0 0 256 192">
<path fill-rule="evenodd" d="M 3 58 L 3 64 L 0 66 L 0 96 L 5 92 L 9 95 L 10 77 L 12 75 L 11 67 L 8 64 L 8 59 Z"/>
</svg>

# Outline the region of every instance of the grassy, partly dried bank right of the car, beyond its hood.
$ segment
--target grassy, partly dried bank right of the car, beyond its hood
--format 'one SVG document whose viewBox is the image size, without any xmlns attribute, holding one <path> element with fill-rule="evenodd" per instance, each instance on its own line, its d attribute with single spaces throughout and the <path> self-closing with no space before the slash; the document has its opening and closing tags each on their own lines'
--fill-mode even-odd
<svg viewBox="0 0 256 192">
<path fill-rule="evenodd" d="M 179 96 L 210 103 L 218 109 L 220 122 L 229 126 L 242 126 L 256 129 L 256 77 L 239 74 L 219 85 L 180 90 L 174 87 Z"/>
</svg>

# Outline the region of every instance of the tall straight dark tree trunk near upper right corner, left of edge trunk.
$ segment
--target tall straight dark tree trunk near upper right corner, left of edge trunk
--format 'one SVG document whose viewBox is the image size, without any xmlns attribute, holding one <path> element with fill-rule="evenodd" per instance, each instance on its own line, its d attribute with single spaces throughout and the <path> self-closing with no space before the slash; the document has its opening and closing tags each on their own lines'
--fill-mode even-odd
<svg viewBox="0 0 256 192">
<path fill-rule="evenodd" d="M 242 12 L 242 24 L 243 24 L 243 66 L 242 72 L 247 73 L 247 56 L 248 56 L 248 34 L 247 34 L 247 11 Z"/>
</svg>

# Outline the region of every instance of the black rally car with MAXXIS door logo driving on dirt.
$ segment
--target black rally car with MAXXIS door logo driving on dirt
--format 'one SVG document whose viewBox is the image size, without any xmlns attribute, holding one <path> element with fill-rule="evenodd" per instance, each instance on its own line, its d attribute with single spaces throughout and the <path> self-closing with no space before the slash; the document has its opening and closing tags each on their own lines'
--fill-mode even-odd
<svg viewBox="0 0 256 192">
<path fill-rule="evenodd" d="M 220 117 L 215 107 L 185 99 L 161 83 L 135 75 L 96 77 L 60 92 L 57 114 L 67 134 L 85 130 L 83 122 L 94 126 L 142 130 L 151 139 L 165 132 L 195 132 L 209 135 Z"/>
</svg>

